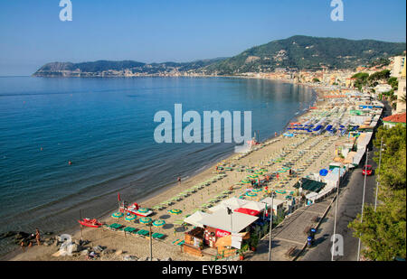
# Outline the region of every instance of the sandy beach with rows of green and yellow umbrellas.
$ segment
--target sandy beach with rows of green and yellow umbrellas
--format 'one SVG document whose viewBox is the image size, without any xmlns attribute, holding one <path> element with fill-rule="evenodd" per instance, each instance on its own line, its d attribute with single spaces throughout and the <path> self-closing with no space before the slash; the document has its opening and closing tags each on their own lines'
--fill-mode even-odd
<svg viewBox="0 0 407 279">
<path fill-rule="evenodd" d="M 317 97 L 323 97 L 326 92 L 320 88 L 315 88 Z M 323 106 L 324 101 L 318 101 L 316 106 Z M 299 116 L 298 118 L 306 118 L 309 111 Z M 292 169 L 296 170 L 294 175 L 289 176 L 289 172 L 281 173 L 278 180 L 270 181 L 268 187 L 272 190 L 280 190 L 284 194 L 278 194 L 277 199 L 284 200 L 288 194 L 297 195 L 296 189 L 293 187 L 301 177 L 309 173 L 317 172 L 321 167 L 326 166 L 332 161 L 335 156 L 335 144 L 338 141 L 337 136 L 326 135 L 297 135 L 295 137 L 285 137 L 279 135 L 271 138 L 266 142 L 256 145 L 254 150 L 238 159 L 239 154 L 234 153 L 229 158 L 220 163 L 200 172 L 194 177 L 191 177 L 181 183 L 169 187 L 165 191 L 159 191 L 146 200 L 137 201 L 141 207 L 153 209 L 157 205 L 167 201 L 174 200 L 173 198 L 183 191 L 189 191 L 183 197 L 175 200 L 173 204 L 162 209 L 154 209 L 154 213 L 150 216 L 153 220 L 162 219 L 166 222 L 163 227 L 153 227 L 153 233 L 161 233 L 166 235 L 162 240 L 154 239 L 153 257 L 160 260 L 170 257 L 172 260 L 211 260 L 213 256 L 207 255 L 201 258 L 188 256 L 181 251 L 180 246 L 176 246 L 173 242 L 177 239 L 184 239 L 186 230 L 191 226 L 181 226 L 182 220 L 196 210 L 207 210 L 207 207 L 212 207 L 218 204 L 223 199 L 232 197 L 239 198 L 245 192 L 246 186 L 239 182 L 247 177 L 250 173 L 238 172 L 238 166 L 244 168 L 260 169 L 265 168 L 268 172 L 277 172 L 283 163 L 291 163 Z M 282 158 L 279 162 L 272 162 L 277 158 Z M 219 178 L 219 173 L 216 172 L 216 165 L 223 164 L 224 166 L 232 166 L 232 170 L 224 171 L 223 177 Z M 198 189 L 197 185 L 202 185 L 206 181 L 206 186 Z M 245 197 L 247 200 L 260 200 L 266 196 L 266 192 L 260 192 L 254 197 Z M 126 200 L 126 199 L 125 199 Z M 128 200 L 134 202 L 134 200 Z M 206 205 L 203 207 L 203 205 Z M 179 215 L 170 214 L 169 209 L 180 209 L 182 213 Z M 110 212 L 113 213 L 116 210 Z M 89 217 L 91 218 L 91 217 Z M 145 224 L 138 221 L 126 221 L 124 217 L 114 219 L 111 215 L 101 219 L 107 224 L 119 223 L 124 226 L 130 226 L 137 229 L 148 230 Z M 144 258 L 150 255 L 148 237 L 137 237 L 131 234 L 126 234 L 124 231 L 111 231 L 106 228 L 83 228 L 80 231 L 80 226 L 74 231 L 66 233 L 71 234 L 73 240 L 79 240 L 81 237 L 89 243 L 86 247 L 103 246 L 106 253 L 101 253 L 98 260 L 123 260 L 126 256 L 134 256 L 135 258 Z M 46 238 L 46 237 L 44 237 Z M 47 239 L 46 239 L 47 240 Z M 58 246 L 33 246 L 25 248 L 23 252 L 20 249 L 5 257 L 7 260 L 86 260 L 86 256 L 80 253 L 75 253 L 73 256 L 52 256 L 59 250 Z"/>
</svg>

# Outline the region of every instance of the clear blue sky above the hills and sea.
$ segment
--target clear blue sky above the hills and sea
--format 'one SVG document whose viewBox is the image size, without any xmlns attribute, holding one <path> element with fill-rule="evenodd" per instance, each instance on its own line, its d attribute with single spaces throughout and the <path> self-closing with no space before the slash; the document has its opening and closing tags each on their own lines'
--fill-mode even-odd
<svg viewBox="0 0 407 279">
<path fill-rule="evenodd" d="M 0 75 L 29 75 L 49 61 L 188 61 L 233 56 L 301 34 L 406 41 L 406 1 L 343 0 L 0 0 Z"/>
</svg>

